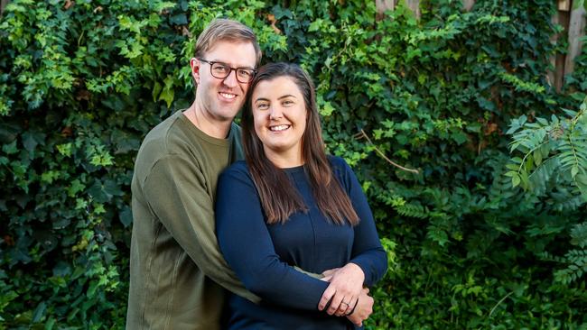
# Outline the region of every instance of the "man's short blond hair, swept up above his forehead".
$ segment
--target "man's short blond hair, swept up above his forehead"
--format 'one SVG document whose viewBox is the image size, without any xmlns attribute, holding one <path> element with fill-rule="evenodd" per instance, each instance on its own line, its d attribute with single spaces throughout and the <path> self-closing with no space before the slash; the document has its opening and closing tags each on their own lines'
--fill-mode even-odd
<svg viewBox="0 0 587 330">
<path fill-rule="evenodd" d="M 255 48 L 256 66 L 261 62 L 261 48 L 256 41 L 255 32 L 243 23 L 224 18 L 215 19 L 200 33 L 196 41 L 195 57 L 202 58 L 218 41 L 250 42 Z"/>
</svg>

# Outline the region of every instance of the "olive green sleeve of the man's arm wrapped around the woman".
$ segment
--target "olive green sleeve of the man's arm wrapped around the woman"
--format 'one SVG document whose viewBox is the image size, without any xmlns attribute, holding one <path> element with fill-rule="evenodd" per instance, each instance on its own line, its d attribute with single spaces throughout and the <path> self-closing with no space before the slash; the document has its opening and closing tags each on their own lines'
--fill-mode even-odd
<svg viewBox="0 0 587 330">
<path fill-rule="evenodd" d="M 210 279 L 253 302 L 260 299 L 245 289 L 219 251 L 214 232 L 213 201 L 203 174 L 180 155 L 167 155 L 144 179 L 149 207 L 173 238 Z"/>
</svg>

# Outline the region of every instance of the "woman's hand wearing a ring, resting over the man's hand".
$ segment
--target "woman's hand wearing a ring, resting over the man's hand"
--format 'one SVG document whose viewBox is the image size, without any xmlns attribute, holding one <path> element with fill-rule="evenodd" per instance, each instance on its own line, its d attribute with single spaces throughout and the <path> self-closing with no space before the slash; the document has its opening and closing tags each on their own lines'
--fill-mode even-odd
<svg viewBox="0 0 587 330">
<path fill-rule="evenodd" d="M 326 270 L 324 276 L 331 284 L 324 290 L 318 309 L 323 310 L 331 301 L 326 311 L 329 315 L 349 314 L 363 289 L 365 273 L 357 264 L 349 262 L 340 269 Z"/>
</svg>

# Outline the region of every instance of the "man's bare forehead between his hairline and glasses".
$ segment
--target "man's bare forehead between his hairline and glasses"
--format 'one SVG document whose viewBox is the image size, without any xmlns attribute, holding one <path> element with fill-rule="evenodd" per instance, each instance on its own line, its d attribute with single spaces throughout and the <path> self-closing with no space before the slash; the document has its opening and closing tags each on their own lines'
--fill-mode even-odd
<svg viewBox="0 0 587 330">
<path fill-rule="evenodd" d="M 256 52 L 249 41 L 217 41 L 205 52 L 206 59 L 238 67 L 254 68 Z"/>
</svg>

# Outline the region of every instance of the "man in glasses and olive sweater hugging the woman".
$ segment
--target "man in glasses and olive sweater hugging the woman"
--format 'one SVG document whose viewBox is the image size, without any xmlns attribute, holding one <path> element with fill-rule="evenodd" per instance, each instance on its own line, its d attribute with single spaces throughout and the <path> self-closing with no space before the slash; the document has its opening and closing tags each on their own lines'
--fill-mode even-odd
<svg viewBox="0 0 587 330">
<path fill-rule="evenodd" d="M 220 171 L 242 158 L 232 120 L 260 60 L 247 26 L 210 23 L 190 61 L 194 102 L 144 138 L 131 186 L 127 329 L 218 329 L 222 287 L 258 301 L 219 252 L 213 207 Z"/>
</svg>

